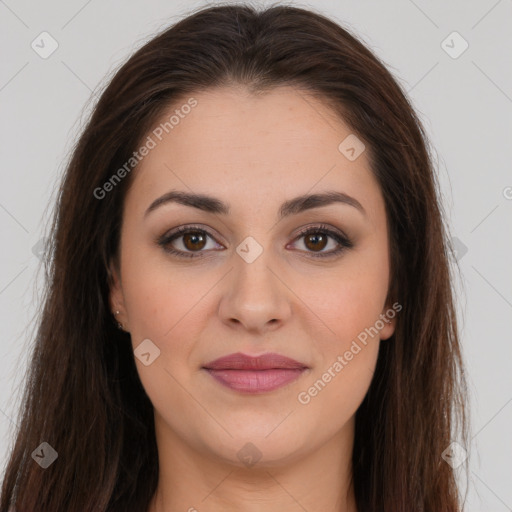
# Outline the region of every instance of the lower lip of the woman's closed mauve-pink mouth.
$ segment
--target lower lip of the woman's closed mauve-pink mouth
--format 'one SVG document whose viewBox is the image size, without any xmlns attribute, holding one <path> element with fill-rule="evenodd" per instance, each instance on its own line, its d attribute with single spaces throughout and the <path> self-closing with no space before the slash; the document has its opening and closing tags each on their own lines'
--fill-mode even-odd
<svg viewBox="0 0 512 512">
<path fill-rule="evenodd" d="M 306 369 L 206 370 L 218 382 L 235 391 L 264 393 L 298 379 Z"/>
</svg>

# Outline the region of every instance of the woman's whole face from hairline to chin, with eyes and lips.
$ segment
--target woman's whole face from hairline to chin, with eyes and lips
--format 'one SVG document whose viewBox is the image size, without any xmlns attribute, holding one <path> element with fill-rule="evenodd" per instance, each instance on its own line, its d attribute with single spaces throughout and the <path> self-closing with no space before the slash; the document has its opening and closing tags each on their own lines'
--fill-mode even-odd
<svg viewBox="0 0 512 512">
<path fill-rule="evenodd" d="M 379 341 L 395 325 L 385 207 L 367 152 L 291 87 L 191 96 L 197 103 L 185 98 L 146 134 L 111 294 L 157 438 L 237 465 L 350 440 Z M 165 200 L 170 192 L 201 199 Z M 237 359 L 212 370 L 233 353 L 300 364 L 271 357 L 249 369 Z"/>
</svg>

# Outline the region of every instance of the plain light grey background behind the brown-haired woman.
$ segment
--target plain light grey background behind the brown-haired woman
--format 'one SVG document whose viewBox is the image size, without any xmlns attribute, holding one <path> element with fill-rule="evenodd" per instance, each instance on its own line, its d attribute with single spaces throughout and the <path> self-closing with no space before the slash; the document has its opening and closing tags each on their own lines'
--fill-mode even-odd
<svg viewBox="0 0 512 512">
<path fill-rule="evenodd" d="M 510 511 L 512 0 L 289 3 L 355 31 L 404 85 L 429 133 L 461 268 L 473 424 L 466 510 Z M 156 31 L 204 4 L 0 0 L 2 465 L 39 304 L 38 250 L 67 156 L 106 77 Z M 31 47 L 43 31 L 59 45 L 46 59 Z M 460 55 L 464 41 L 454 31 L 469 44 Z"/>
</svg>

